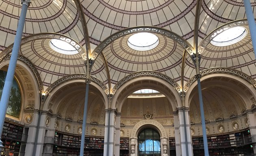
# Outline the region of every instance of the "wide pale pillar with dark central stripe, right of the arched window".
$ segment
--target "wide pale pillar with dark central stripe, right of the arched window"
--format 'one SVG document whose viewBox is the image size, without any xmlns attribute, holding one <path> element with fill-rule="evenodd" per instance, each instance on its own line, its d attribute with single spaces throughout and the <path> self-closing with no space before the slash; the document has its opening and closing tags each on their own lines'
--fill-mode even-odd
<svg viewBox="0 0 256 156">
<path fill-rule="evenodd" d="M 179 128 L 180 128 L 180 147 L 182 156 L 192 156 L 191 134 L 189 127 L 189 110 L 188 108 L 178 108 Z"/>
</svg>

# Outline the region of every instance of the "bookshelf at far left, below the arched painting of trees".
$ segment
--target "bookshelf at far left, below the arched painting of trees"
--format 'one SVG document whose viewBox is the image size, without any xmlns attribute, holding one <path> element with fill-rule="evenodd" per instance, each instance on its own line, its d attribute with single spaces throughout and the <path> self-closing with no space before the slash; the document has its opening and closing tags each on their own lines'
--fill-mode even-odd
<svg viewBox="0 0 256 156">
<path fill-rule="evenodd" d="M 22 125 L 4 122 L 1 135 L 4 148 L 1 152 L 1 156 L 19 156 L 23 128 Z"/>
</svg>

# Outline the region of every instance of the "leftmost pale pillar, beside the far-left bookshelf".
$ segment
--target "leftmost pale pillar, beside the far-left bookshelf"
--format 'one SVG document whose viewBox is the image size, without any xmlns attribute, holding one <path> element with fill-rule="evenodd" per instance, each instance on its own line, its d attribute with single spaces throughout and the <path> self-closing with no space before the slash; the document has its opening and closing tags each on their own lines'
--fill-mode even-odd
<svg viewBox="0 0 256 156">
<path fill-rule="evenodd" d="M 33 156 L 33 149 L 36 141 L 38 118 L 39 118 L 39 112 L 35 111 L 33 113 L 33 120 L 31 124 L 24 127 L 24 128 L 28 128 L 28 137 L 26 140 L 26 149 L 25 149 L 26 156 Z"/>
</svg>

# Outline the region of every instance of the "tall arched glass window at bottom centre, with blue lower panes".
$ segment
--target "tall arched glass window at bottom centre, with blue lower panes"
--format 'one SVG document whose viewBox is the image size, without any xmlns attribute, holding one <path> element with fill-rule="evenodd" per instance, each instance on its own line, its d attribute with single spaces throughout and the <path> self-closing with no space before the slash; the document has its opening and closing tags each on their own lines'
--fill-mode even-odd
<svg viewBox="0 0 256 156">
<path fill-rule="evenodd" d="M 147 128 L 138 137 L 139 156 L 161 156 L 160 135 L 153 129 Z"/>
</svg>

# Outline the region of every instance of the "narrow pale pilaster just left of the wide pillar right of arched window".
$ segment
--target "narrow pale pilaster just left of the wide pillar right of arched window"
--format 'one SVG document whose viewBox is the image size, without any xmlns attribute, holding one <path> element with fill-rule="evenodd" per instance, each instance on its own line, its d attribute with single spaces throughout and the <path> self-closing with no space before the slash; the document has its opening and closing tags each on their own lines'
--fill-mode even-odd
<svg viewBox="0 0 256 156">
<path fill-rule="evenodd" d="M 178 118 L 178 113 L 176 112 L 174 112 L 174 136 L 175 136 L 176 156 L 181 156 L 179 118 Z"/>
</svg>

